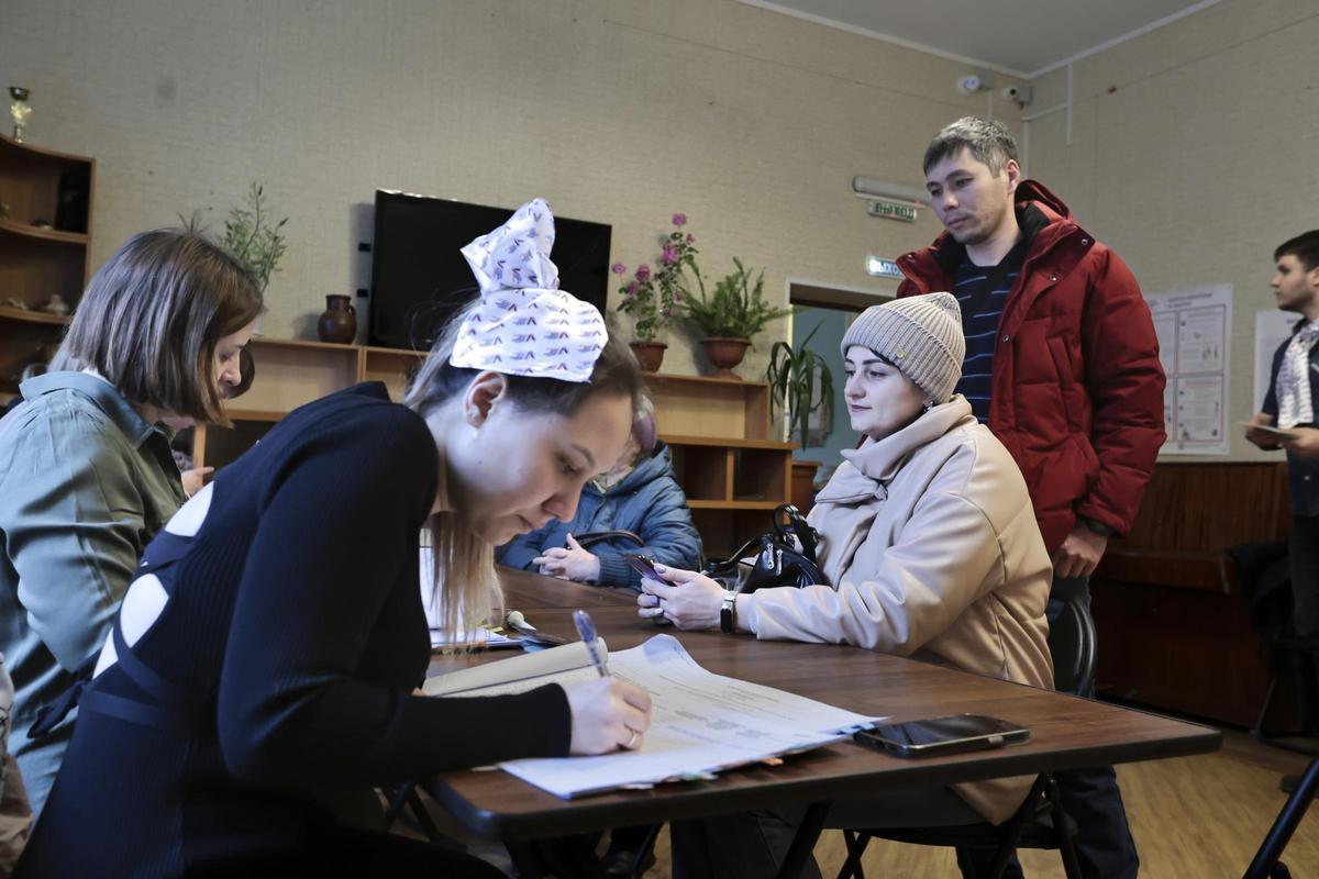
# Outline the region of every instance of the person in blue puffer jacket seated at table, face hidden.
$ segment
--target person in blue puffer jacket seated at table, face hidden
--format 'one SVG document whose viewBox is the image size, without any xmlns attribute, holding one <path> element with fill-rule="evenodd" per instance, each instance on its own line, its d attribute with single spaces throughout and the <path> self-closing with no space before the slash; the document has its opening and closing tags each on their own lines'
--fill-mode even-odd
<svg viewBox="0 0 1319 879">
<path fill-rule="evenodd" d="M 582 489 L 576 515 L 513 538 L 495 553 L 510 568 L 598 586 L 641 590 L 624 555 L 677 568 L 700 567 L 700 534 L 673 472 L 673 452 L 656 436 L 654 406 L 642 398 L 623 456 Z"/>
</svg>

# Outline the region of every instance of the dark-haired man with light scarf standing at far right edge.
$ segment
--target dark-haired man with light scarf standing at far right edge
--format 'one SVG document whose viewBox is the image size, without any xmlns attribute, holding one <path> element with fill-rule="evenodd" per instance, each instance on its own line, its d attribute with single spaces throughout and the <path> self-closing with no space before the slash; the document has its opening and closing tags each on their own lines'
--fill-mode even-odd
<svg viewBox="0 0 1319 879">
<path fill-rule="evenodd" d="M 1291 488 L 1293 626 L 1301 638 L 1319 637 L 1319 229 L 1283 241 L 1273 252 L 1273 291 L 1278 308 L 1301 315 L 1291 337 L 1273 354 L 1269 393 L 1250 424 L 1289 431 L 1294 439 L 1249 428 L 1245 438 L 1264 449 L 1286 449 Z"/>
</svg>

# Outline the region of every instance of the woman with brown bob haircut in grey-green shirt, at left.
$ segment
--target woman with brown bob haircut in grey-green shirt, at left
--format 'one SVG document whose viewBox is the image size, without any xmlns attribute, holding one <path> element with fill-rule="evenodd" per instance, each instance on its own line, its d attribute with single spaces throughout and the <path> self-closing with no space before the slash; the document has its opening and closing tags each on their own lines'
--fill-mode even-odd
<svg viewBox="0 0 1319 879">
<path fill-rule="evenodd" d="M 0 419 L 0 651 L 37 813 L 73 721 L 28 730 L 106 639 L 142 550 L 187 499 L 165 422 L 227 423 L 220 399 L 260 312 L 251 274 L 206 239 L 135 235 L 92 277 L 51 372 Z"/>
</svg>

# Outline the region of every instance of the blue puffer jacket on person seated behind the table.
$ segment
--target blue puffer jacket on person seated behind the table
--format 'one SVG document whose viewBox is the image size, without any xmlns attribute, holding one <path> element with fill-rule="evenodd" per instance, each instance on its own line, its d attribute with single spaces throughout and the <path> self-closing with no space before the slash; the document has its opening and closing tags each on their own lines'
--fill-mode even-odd
<svg viewBox="0 0 1319 879">
<path fill-rule="evenodd" d="M 687 496 L 673 476 L 673 453 L 663 443 L 604 493 L 587 482 L 571 522 L 550 522 L 543 528 L 513 538 L 495 552 L 500 564 L 534 571 L 532 559 L 545 550 L 567 546 L 572 536 L 594 531 L 632 531 L 645 546 L 632 540 L 603 540 L 588 550 L 600 559 L 601 586 L 630 586 L 641 592 L 641 577 L 623 560 L 624 552 L 641 552 L 661 564 L 695 571 L 700 567 L 700 535 L 691 525 Z"/>
</svg>

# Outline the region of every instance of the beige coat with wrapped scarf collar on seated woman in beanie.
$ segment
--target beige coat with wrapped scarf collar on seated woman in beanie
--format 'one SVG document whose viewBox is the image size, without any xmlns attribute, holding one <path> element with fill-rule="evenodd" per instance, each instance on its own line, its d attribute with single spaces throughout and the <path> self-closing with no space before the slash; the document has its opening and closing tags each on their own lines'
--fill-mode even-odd
<svg viewBox="0 0 1319 879">
<path fill-rule="evenodd" d="M 1051 688 L 1053 567 L 1016 463 L 967 401 L 843 457 L 809 517 L 834 585 L 739 596 L 739 623 L 758 638 L 856 644 Z M 1031 780 L 954 789 L 998 824 Z"/>
</svg>

